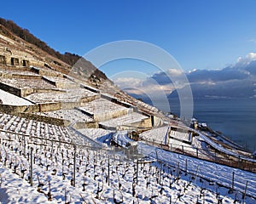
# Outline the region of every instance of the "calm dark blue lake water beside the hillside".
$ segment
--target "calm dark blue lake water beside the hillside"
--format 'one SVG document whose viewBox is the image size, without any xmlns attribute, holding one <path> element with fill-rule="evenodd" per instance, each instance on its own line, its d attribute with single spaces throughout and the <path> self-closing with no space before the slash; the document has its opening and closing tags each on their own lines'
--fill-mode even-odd
<svg viewBox="0 0 256 204">
<path fill-rule="evenodd" d="M 172 113 L 179 116 L 178 99 L 169 99 L 169 103 Z M 160 100 L 155 105 L 166 111 Z M 194 99 L 194 117 L 237 144 L 256 150 L 256 99 Z"/>
</svg>

